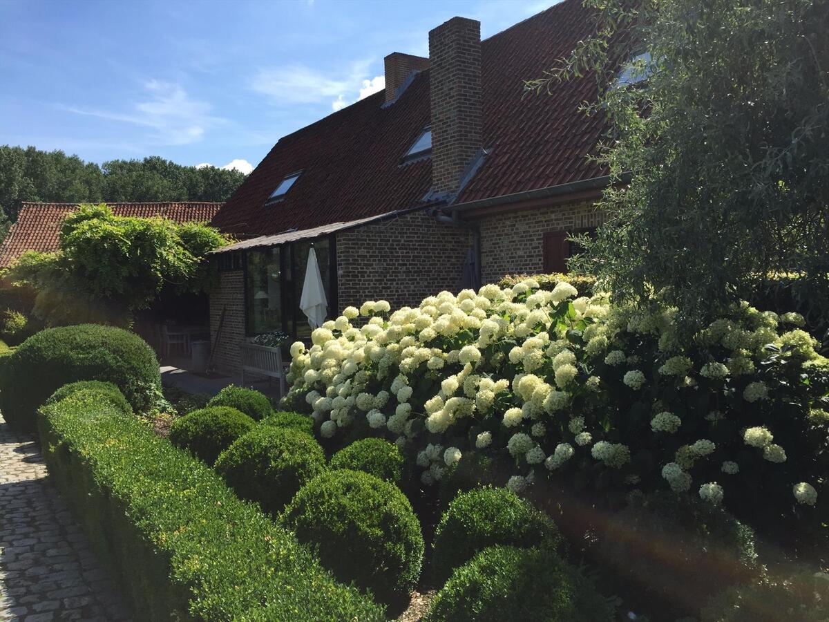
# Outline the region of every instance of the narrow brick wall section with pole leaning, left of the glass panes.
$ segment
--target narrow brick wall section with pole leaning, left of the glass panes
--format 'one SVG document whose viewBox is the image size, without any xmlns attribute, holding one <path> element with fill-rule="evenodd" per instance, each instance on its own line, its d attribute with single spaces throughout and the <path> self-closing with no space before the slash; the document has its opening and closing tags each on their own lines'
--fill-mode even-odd
<svg viewBox="0 0 829 622">
<path fill-rule="evenodd" d="M 221 337 L 216 343 L 222 309 L 226 309 L 225 321 L 221 326 Z M 245 338 L 245 273 L 242 270 L 219 273 L 219 281 L 210 293 L 210 334 L 216 369 L 225 373 L 238 373 L 239 343 Z"/>
</svg>

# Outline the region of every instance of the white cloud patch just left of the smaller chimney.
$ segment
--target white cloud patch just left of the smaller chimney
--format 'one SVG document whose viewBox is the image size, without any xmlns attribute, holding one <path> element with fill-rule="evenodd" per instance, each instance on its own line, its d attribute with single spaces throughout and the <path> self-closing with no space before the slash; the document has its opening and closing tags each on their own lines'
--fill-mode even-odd
<svg viewBox="0 0 829 622">
<path fill-rule="evenodd" d="M 251 88 L 268 95 L 279 105 L 318 104 L 328 100 L 336 112 L 385 88 L 385 76 L 366 78 L 370 64 L 370 61 L 356 61 L 344 75 L 336 77 L 298 64 L 260 69 L 251 81 Z"/>
</svg>

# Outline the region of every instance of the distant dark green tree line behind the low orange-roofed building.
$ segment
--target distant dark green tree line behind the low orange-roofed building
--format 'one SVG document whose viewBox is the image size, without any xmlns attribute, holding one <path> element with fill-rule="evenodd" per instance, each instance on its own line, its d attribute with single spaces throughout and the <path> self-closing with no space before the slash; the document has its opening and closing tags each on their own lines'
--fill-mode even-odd
<svg viewBox="0 0 829 622">
<path fill-rule="evenodd" d="M 62 151 L 0 145 L 0 207 L 17 218 L 23 201 L 226 201 L 245 174 L 216 167 L 186 167 L 153 156 L 85 163 Z"/>
</svg>

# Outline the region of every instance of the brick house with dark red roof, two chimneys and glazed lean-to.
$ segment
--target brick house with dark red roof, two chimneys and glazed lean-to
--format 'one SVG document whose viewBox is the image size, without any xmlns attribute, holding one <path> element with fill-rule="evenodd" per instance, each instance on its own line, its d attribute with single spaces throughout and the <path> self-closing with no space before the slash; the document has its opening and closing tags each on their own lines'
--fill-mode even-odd
<svg viewBox="0 0 829 622">
<path fill-rule="evenodd" d="M 429 32 L 429 58 L 385 57 L 384 92 L 281 138 L 213 219 L 241 240 L 215 256 L 216 366 L 234 371 L 257 333 L 308 338 L 298 300 L 312 245 L 331 316 L 458 289 L 470 257 L 478 283 L 565 270 L 566 236 L 601 220 L 608 177 L 586 156 L 606 127 L 578 109 L 596 96 L 592 76 L 550 95 L 523 80 L 594 28 L 581 0 L 484 41 L 478 22 L 453 17 Z"/>
</svg>

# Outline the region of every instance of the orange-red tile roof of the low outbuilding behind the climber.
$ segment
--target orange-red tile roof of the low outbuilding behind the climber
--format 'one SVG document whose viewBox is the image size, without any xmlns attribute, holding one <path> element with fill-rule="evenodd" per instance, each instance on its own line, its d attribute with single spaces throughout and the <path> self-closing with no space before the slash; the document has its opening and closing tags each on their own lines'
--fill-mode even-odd
<svg viewBox="0 0 829 622">
<path fill-rule="evenodd" d="M 108 203 L 118 216 L 164 216 L 176 222 L 207 222 L 219 211 L 221 203 L 158 202 Z M 6 268 L 26 250 L 57 250 L 61 222 L 77 203 L 23 202 L 6 239 L 0 245 L 0 268 Z"/>
</svg>

